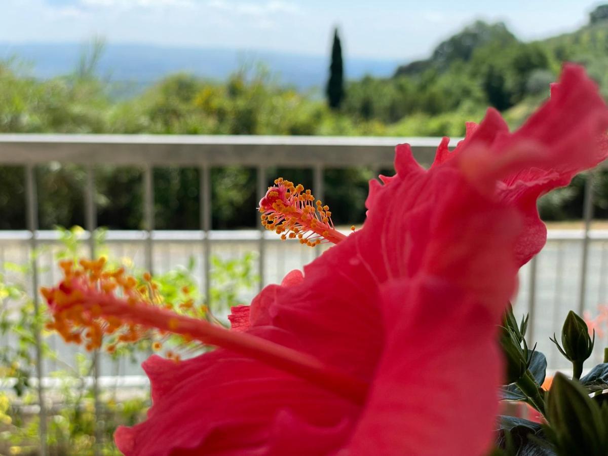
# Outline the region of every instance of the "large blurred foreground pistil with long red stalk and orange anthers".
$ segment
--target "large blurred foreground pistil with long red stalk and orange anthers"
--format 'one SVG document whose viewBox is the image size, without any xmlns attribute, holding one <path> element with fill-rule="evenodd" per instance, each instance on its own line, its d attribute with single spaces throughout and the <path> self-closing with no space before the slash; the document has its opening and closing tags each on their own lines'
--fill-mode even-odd
<svg viewBox="0 0 608 456">
<path fill-rule="evenodd" d="M 118 334 L 119 342 L 134 342 L 151 330 L 179 334 L 188 341 L 198 340 L 256 359 L 350 401 L 365 400 L 366 382 L 309 354 L 178 314 L 143 295 L 132 277 L 103 272 L 103 263 L 85 262 L 87 268 L 75 269 L 63 266 L 66 278 L 42 293 L 54 316 L 47 329 L 56 330 L 66 342 L 83 343 L 91 350 L 101 347 L 106 334 Z M 116 350 L 116 342 L 107 348 Z"/>
</svg>

